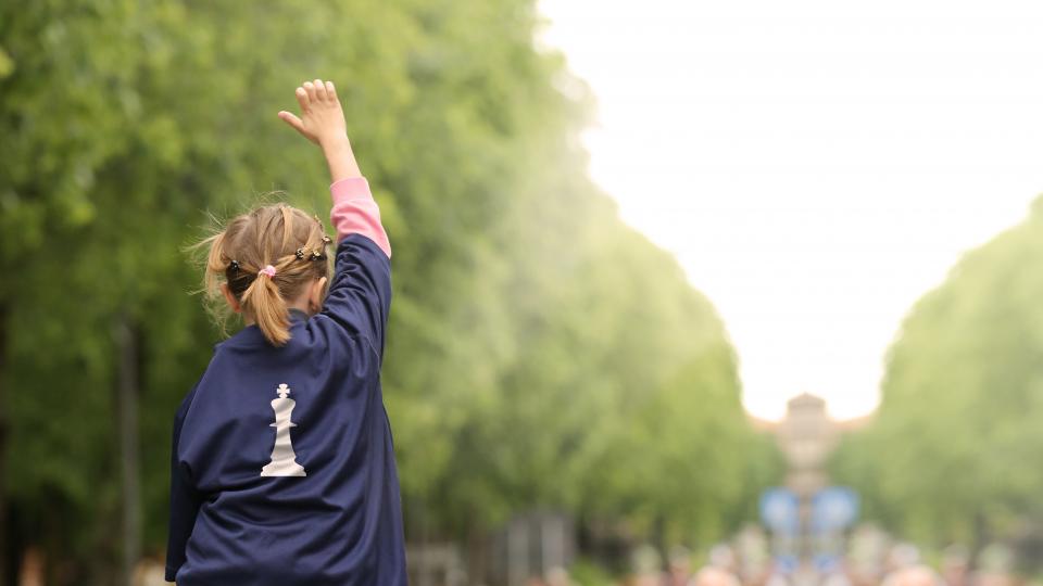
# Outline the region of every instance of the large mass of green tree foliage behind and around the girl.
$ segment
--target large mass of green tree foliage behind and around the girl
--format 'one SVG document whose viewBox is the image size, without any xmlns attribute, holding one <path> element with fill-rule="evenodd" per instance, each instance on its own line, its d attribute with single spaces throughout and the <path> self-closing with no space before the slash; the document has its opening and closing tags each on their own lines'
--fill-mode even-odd
<svg viewBox="0 0 1043 586">
<path fill-rule="evenodd" d="M 671 517 L 676 540 L 745 514 L 770 448 L 724 328 L 586 177 L 591 100 L 537 26 L 524 0 L 0 7 L 3 480 L 9 534 L 52 582 L 111 582 L 125 323 L 162 552 L 172 417 L 218 341 L 179 251 L 259 192 L 324 215 L 321 158 L 275 116 L 315 76 L 338 81 L 395 247 L 407 514 L 451 538 L 533 507 Z"/>
</svg>

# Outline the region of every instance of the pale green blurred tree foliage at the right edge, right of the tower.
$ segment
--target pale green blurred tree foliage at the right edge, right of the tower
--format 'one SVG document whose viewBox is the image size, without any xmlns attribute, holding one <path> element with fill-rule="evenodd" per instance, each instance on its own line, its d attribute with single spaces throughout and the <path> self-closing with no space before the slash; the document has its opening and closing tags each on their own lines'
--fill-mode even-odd
<svg viewBox="0 0 1043 586">
<path fill-rule="evenodd" d="M 869 512 L 925 544 L 1043 520 L 1043 200 L 921 298 L 888 357 L 874 424 L 835 458 Z M 1039 531 L 1039 528 L 1036 528 Z"/>
</svg>

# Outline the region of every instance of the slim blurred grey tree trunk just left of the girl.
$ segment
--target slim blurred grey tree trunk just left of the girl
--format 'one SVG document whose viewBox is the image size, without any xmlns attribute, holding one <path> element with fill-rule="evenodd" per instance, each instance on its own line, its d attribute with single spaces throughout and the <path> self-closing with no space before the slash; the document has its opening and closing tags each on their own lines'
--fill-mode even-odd
<svg viewBox="0 0 1043 586">
<path fill-rule="evenodd" d="M 117 404 L 120 417 L 120 459 L 123 494 L 122 581 L 131 586 L 134 569 L 141 557 L 141 488 L 138 461 L 138 329 L 131 318 L 121 314 L 116 323 L 120 352 Z"/>
</svg>

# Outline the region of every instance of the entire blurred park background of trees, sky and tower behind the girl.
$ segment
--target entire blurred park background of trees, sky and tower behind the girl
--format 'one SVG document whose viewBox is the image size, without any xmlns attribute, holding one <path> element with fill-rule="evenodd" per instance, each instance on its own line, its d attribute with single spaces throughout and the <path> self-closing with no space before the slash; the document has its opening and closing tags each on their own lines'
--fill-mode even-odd
<svg viewBox="0 0 1043 586">
<path fill-rule="evenodd" d="M 0 584 L 162 584 L 183 251 L 394 242 L 419 586 L 1043 584 L 1032 2 L 0 3 Z M 236 328 L 237 326 L 233 326 Z"/>
</svg>

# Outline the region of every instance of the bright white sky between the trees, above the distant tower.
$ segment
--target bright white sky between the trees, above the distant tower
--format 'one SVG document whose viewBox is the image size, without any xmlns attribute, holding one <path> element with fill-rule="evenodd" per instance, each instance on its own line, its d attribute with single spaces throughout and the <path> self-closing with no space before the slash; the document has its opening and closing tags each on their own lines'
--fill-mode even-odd
<svg viewBox="0 0 1043 586">
<path fill-rule="evenodd" d="M 724 318 L 744 403 L 879 400 L 902 318 L 1043 193 L 1043 3 L 541 0 L 590 173 Z"/>
</svg>

